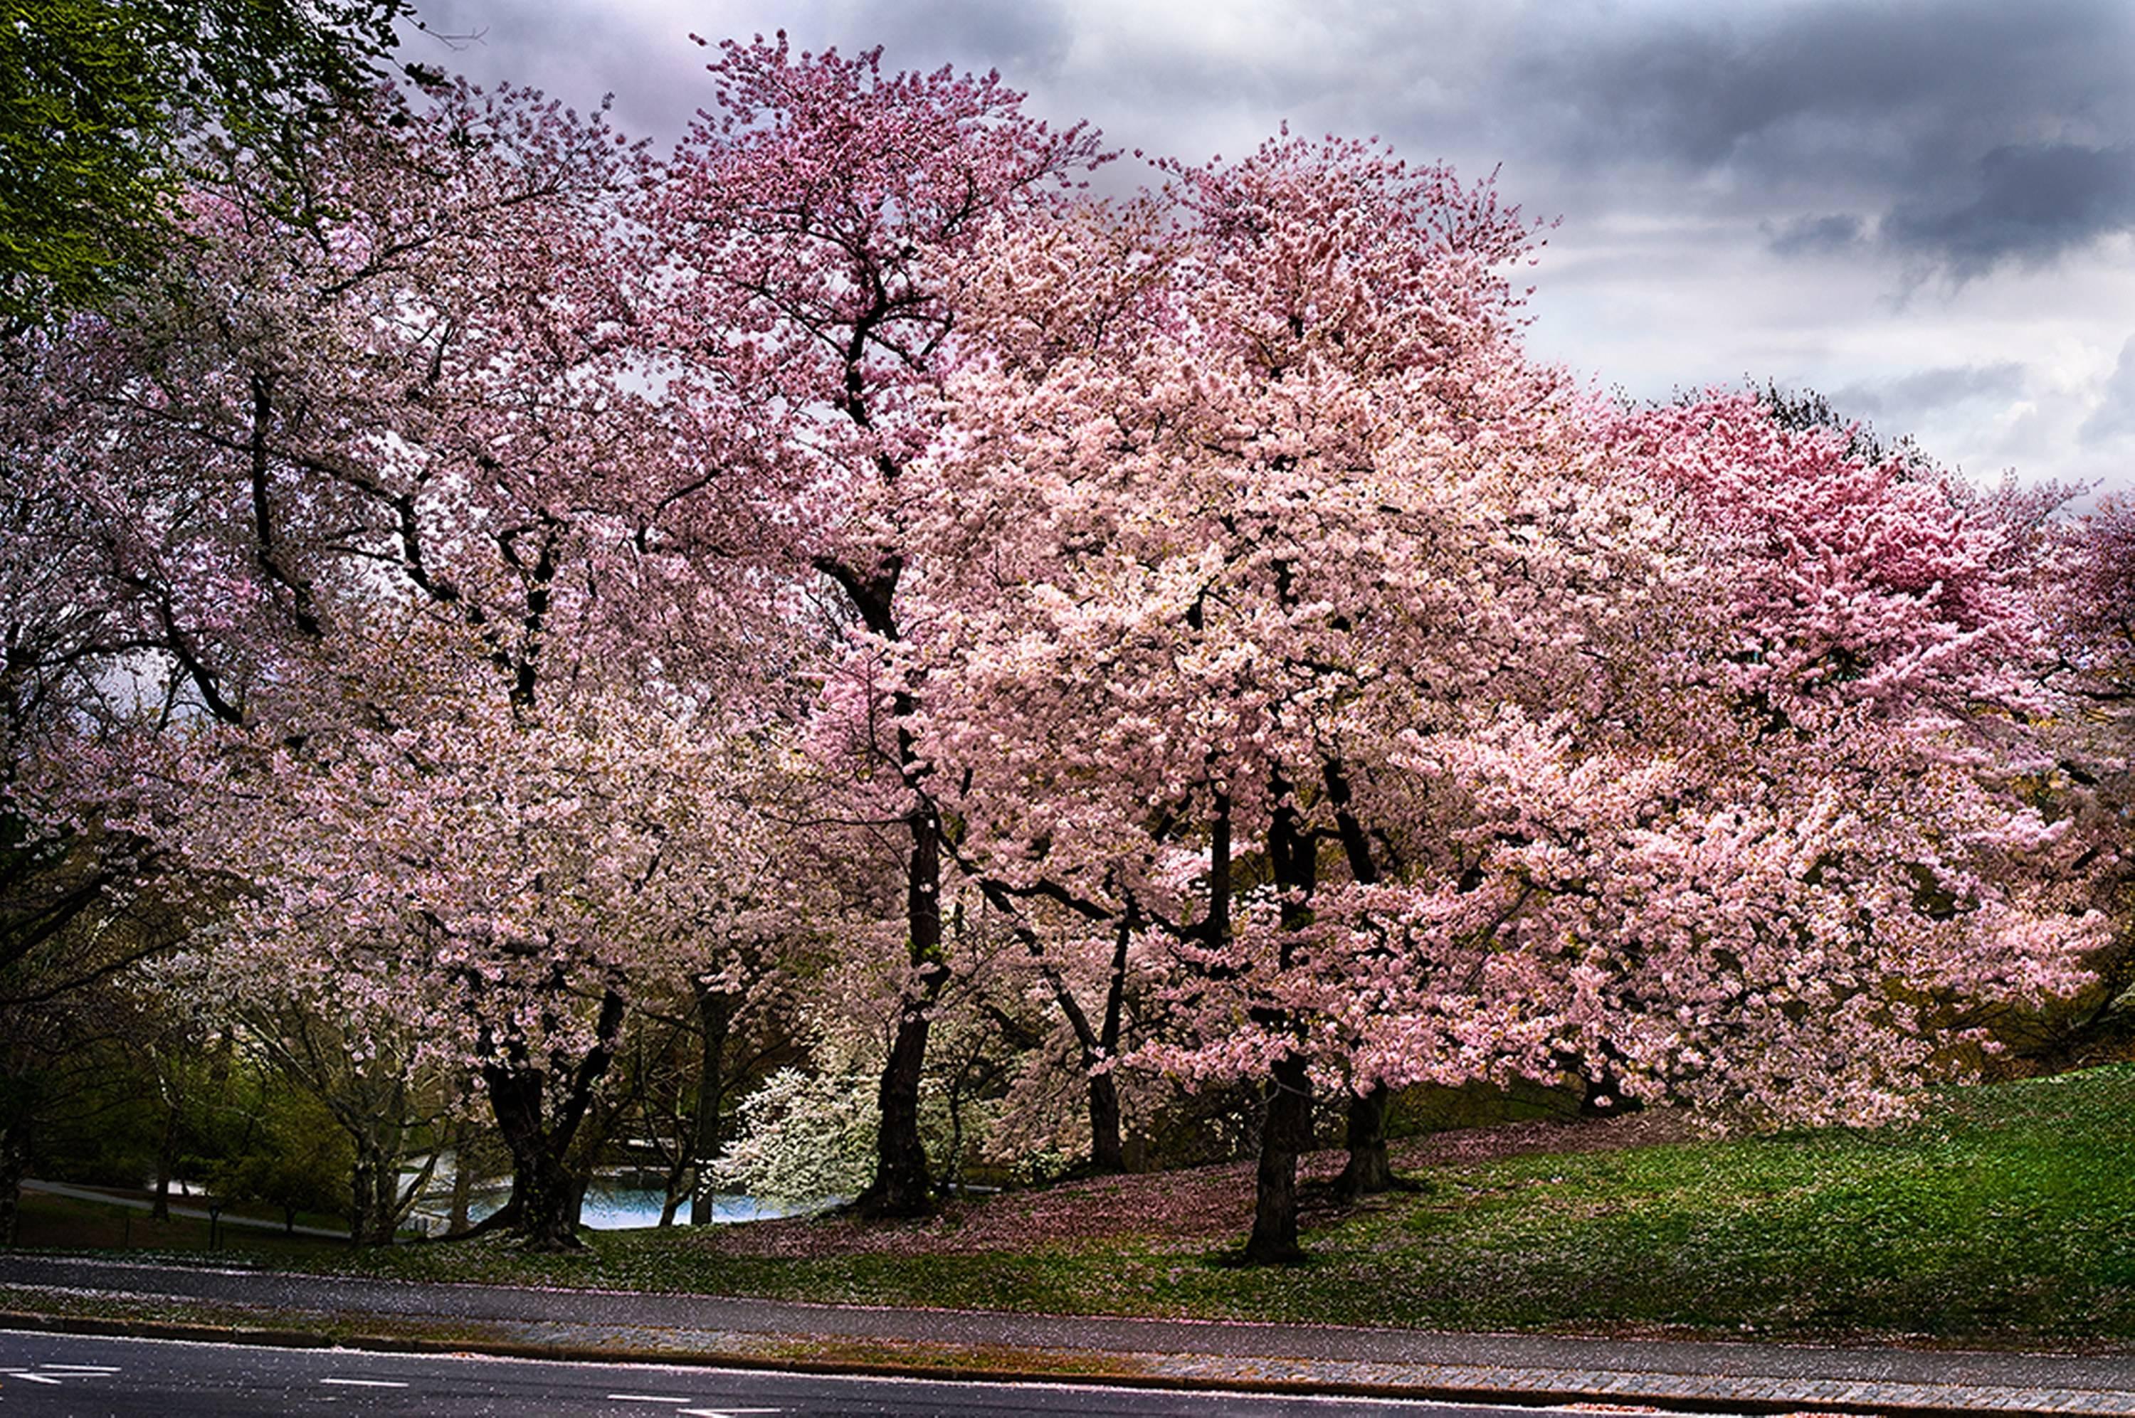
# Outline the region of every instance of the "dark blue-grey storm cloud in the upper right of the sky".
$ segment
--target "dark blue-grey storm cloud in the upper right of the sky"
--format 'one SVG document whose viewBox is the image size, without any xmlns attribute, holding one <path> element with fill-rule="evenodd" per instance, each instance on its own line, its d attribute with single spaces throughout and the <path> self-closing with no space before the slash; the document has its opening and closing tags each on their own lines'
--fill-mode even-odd
<svg viewBox="0 0 2135 1418">
<path fill-rule="evenodd" d="M 1787 254 L 1872 231 L 1968 280 L 2135 226 L 2124 0 L 1610 9 L 1505 73 L 1527 143 L 1761 203 Z"/>
</svg>

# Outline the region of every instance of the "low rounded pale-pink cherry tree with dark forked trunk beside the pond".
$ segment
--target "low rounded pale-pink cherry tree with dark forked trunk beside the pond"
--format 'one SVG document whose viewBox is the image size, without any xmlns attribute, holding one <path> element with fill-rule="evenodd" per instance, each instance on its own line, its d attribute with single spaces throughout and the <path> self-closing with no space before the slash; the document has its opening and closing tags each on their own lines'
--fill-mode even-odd
<svg viewBox="0 0 2135 1418">
<path fill-rule="evenodd" d="M 278 765 L 256 835 L 211 844 L 254 884 L 218 955 L 350 1021 L 359 1057 L 412 1031 L 410 1064 L 472 1072 L 521 1228 L 566 1245 L 574 1140 L 626 1008 L 747 929 L 741 809 L 717 812 L 717 741 L 658 709 L 579 694 L 564 726 L 485 709 L 431 694 L 393 735 L 320 732 L 303 767 Z"/>
</svg>

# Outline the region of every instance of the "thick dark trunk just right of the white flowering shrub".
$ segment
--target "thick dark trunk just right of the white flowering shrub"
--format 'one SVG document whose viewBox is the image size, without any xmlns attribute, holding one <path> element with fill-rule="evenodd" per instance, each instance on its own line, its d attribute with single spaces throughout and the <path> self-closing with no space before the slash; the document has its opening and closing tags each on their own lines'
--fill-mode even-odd
<svg viewBox="0 0 2135 1418">
<path fill-rule="evenodd" d="M 869 1217 L 910 1217 L 933 1211 L 927 1145 L 920 1140 L 920 1074 L 927 1068 L 927 1029 L 933 1002 L 948 982 L 942 961 L 942 822 L 924 803 L 912 809 L 912 861 L 905 876 L 905 920 L 912 931 L 912 984 L 897 1012 L 897 1036 L 882 1068 L 882 1132 L 875 1143 L 875 1181 L 854 1209 Z"/>
</svg>

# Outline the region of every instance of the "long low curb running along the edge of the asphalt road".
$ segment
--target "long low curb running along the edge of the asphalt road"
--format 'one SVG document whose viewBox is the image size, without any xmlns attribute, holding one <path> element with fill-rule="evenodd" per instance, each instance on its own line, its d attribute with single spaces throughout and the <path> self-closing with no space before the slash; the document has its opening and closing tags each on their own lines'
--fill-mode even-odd
<svg viewBox="0 0 2135 1418">
<path fill-rule="evenodd" d="M 115 1320 L 102 1315 L 45 1315 L 28 1311 L 0 1311 L 0 1328 L 21 1328 L 60 1335 L 102 1335 L 120 1339 L 175 1339 L 196 1343 L 248 1343 L 282 1350 L 363 1350 L 376 1354 L 485 1354 L 493 1358 L 534 1358 L 553 1362 L 602 1362 L 602 1365 L 668 1365 L 700 1369 L 747 1369 L 809 1373 L 820 1377 L 899 1377 L 899 1380 L 950 1380 L 971 1384 L 1055 1384 L 1055 1386 L 1097 1386 L 1097 1388 L 1144 1388 L 1161 1392 L 1260 1392 L 1296 1397 L 1347 1397 L 1347 1399 L 1411 1399 L 1435 1403 L 1497 1403 L 1505 1407 L 1563 1407 L 1567 1403 L 1606 1403 L 1618 1412 L 1663 1412 L 1663 1414 L 1902 1414 L 1904 1418 L 1977 1418 L 1979 1414 L 2039 1412 L 2026 1403 L 1977 1403 L 1936 1405 L 1907 1403 L 1892 1397 L 1759 1397 L 1734 1395 L 1674 1395 L 1659 1380 L 1674 1375 L 1650 1375 L 1657 1384 L 1646 1392 L 1625 1392 L 1620 1386 L 1556 1386 L 1556 1388 L 1494 1388 L 1467 1384 L 1401 1384 L 1362 1382 L 1343 1377 L 1313 1377 L 1304 1373 L 1315 1360 L 1255 1360 L 1279 1362 L 1292 1369 L 1287 1375 L 1174 1375 L 1174 1373 L 1119 1373 L 1106 1369 L 1008 1369 L 1008 1367 L 959 1367 L 959 1365 L 899 1365 L 884 1360 L 811 1360 L 811 1358 L 769 1358 L 739 1352 L 647 1352 L 632 1348 L 600 1348 L 525 1339 L 433 1339 L 425 1335 L 316 1335 L 299 1328 L 273 1326 L 226 1326 L 194 1324 L 181 1320 Z M 1093 1358 L 1114 1358 L 1136 1362 L 1142 1356 L 1078 1352 Z M 1221 1362 L 1221 1360 L 1211 1360 Z M 1836 1382 L 1834 1382 L 1836 1386 Z M 1870 1384 L 1847 1384 L 1847 1388 L 1872 1388 Z M 1994 1390 L 1998 1392 L 1998 1390 Z M 2015 1390 L 2022 1392 L 2022 1390 Z M 2043 1395 L 2041 1395 L 2043 1397 Z M 2107 1395 L 2099 1395 L 2101 1399 Z M 2120 1395 L 2114 1395 L 2120 1397 Z M 2056 1405 L 2060 1414 L 2131 1414 L 2135 1405 L 2071 1407 Z"/>
</svg>

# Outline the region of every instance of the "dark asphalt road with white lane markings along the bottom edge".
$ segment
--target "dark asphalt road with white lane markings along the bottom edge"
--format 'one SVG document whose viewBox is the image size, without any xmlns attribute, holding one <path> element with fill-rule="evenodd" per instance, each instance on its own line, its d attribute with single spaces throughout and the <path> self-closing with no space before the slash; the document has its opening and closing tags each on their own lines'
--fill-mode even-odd
<svg viewBox="0 0 2135 1418">
<path fill-rule="evenodd" d="M 948 1384 L 668 1365 L 265 1350 L 0 1330 L 0 1414 L 239 1418 L 248 1414 L 510 1414 L 532 1418 L 1533 1418 L 1535 1409 L 1151 1392 L 1076 1384 Z"/>
</svg>

